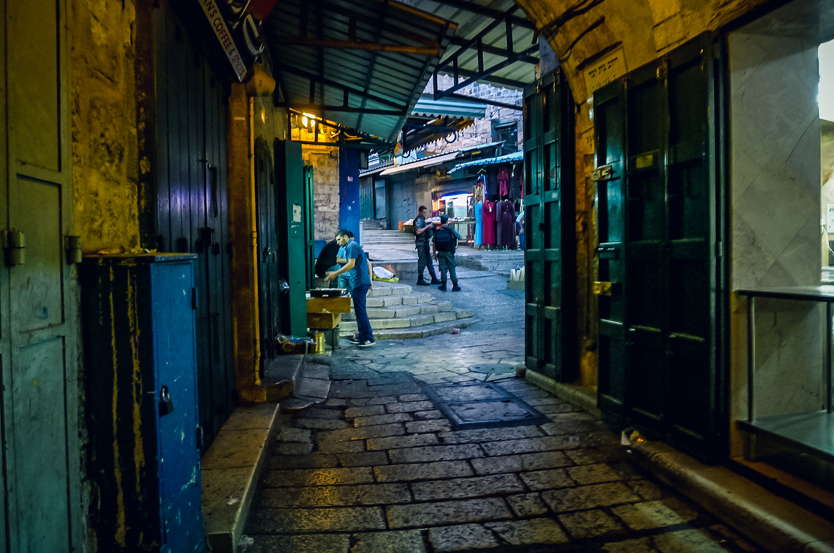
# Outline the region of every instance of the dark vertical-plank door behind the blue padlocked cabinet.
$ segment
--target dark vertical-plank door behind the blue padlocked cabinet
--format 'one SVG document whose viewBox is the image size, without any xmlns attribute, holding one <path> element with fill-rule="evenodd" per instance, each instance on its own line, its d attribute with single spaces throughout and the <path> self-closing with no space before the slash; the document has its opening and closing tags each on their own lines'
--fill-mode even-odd
<svg viewBox="0 0 834 553">
<path fill-rule="evenodd" d="M 198 254 L 199 416 L 208 447 L 236 397 L 226 199 L 228 95 L 168 4 L 154 13 L 158 248 Z"/>
</svg>

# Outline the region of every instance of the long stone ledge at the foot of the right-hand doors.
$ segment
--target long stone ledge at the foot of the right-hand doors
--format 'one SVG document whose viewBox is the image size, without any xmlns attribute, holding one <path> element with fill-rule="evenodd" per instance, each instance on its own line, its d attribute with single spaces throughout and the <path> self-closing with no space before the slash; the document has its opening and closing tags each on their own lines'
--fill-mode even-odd
<svg viewBox="0 0 834 553">
<path fill-rule="evenodd" d="M 536 371 L 526 379 L 600 416 L 596 390 L 557 382 Z M 631 446 L 638 466 L 773 553 L 834 553 L 834 521 L 777 496 L 725 466 L 708 466 L 661 441 Z"/>
</svg>

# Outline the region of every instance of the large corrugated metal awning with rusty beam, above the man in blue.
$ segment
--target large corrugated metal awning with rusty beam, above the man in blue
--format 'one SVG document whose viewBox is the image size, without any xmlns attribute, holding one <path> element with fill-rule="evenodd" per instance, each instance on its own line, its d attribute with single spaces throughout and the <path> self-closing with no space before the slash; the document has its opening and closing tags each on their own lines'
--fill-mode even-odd
<svg viewBox="0 0 834 553">
<path fill-rule="evenodd" d="M 283 0 L 264 27 L 277 105 L 394 142 L 457 25 L 395 0 Z"/>
</svg>

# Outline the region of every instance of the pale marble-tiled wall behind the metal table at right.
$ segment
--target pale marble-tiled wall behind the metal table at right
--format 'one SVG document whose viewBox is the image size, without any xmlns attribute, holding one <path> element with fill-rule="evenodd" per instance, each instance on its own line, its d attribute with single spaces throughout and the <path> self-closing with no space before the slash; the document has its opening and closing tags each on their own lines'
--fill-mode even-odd
<svg viewBox="0 0 834 553">
<path fill-rule="evenodd" d="M 730 40 L 732 289 L 820 283 L 817 44 L 735 32 Z M 762 301 L 756 415 L 816 411 L 823 317 L 816 304 Z M 733 347 L 746 351 L 746 302 Z M 746 356 L 733 356 L 734 418 L 746 417 Z M 739 386 L 741 384 L 741 386 Z"/>
</svg>

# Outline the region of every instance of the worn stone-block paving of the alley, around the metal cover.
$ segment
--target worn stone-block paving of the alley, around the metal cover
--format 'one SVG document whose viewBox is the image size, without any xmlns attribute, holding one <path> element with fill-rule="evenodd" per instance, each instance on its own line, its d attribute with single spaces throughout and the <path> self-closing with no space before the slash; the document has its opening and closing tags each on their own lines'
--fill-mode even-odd
<svg viewBox="0 0 834 553">
<path fill-rule="evenodd" d="M 458 335 L 310 356 L 329 400 L 283 416 L 241 551 L 756 551 L 632 466 L 595 416 L 515 378 L 523 296 L 504 282 L 461 272 L 445 297 L 480 322 Z M 479 381 L 545 420 L 454 430 L 423 387 Z"/>
</svg>

